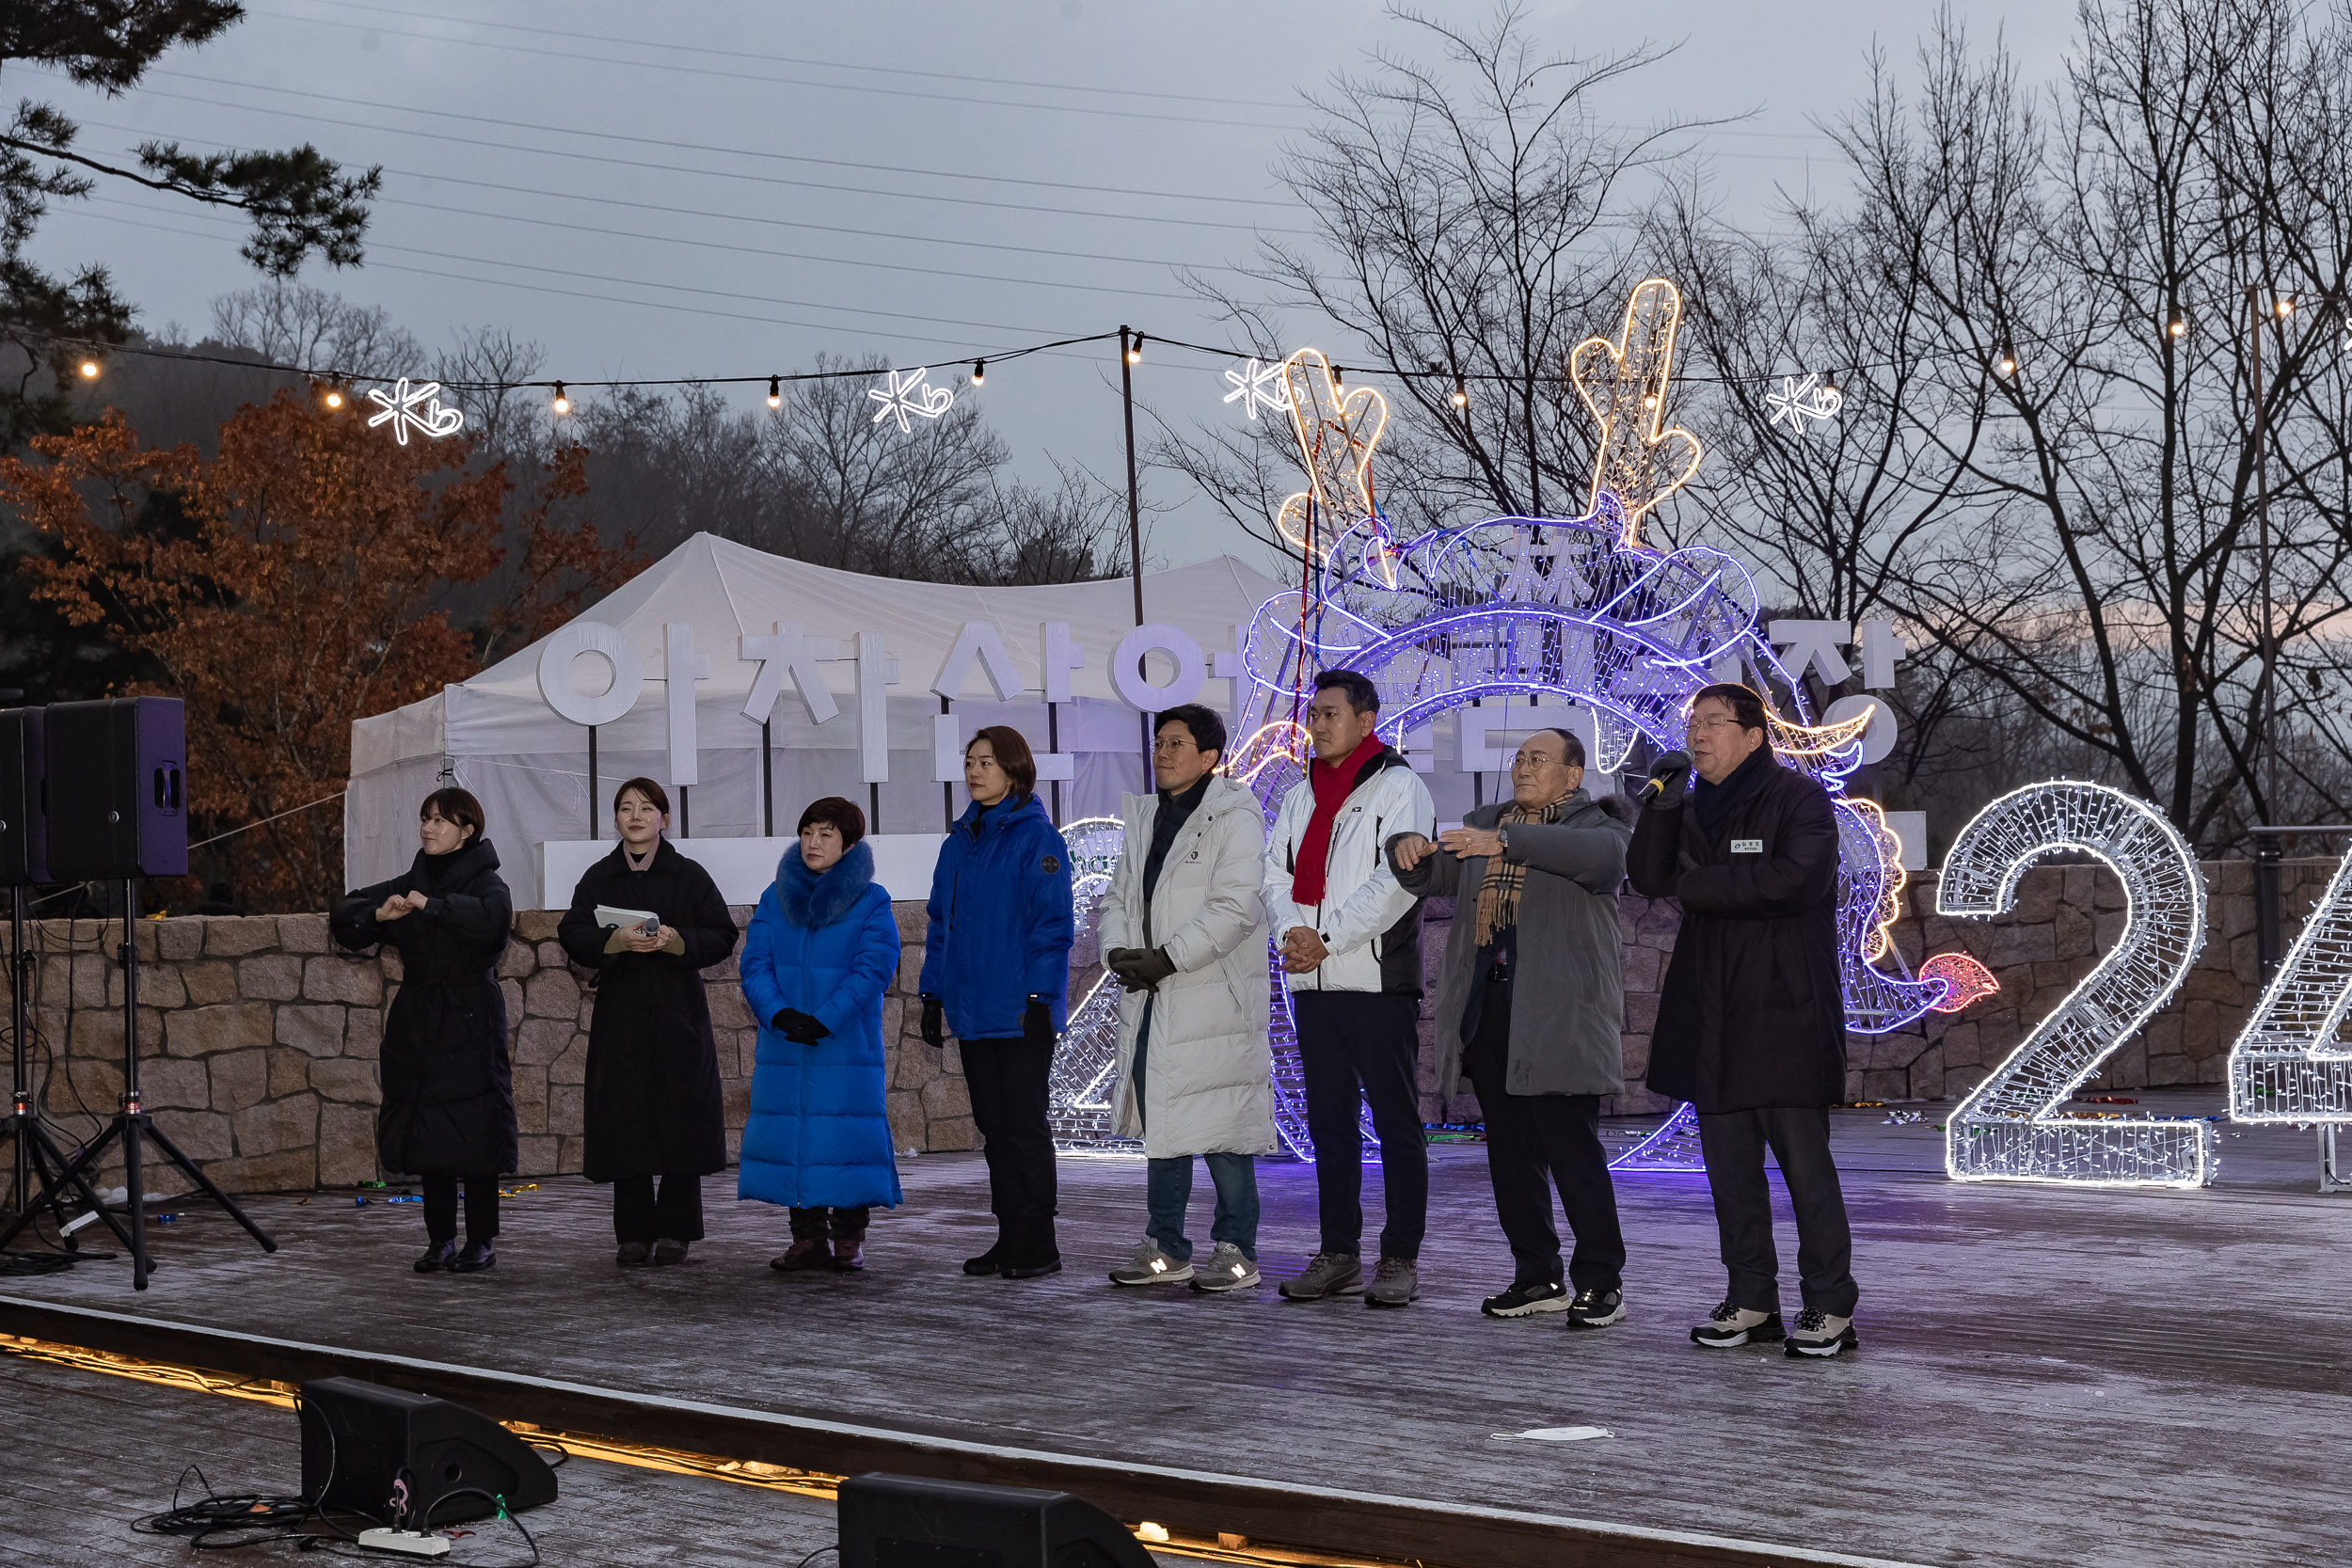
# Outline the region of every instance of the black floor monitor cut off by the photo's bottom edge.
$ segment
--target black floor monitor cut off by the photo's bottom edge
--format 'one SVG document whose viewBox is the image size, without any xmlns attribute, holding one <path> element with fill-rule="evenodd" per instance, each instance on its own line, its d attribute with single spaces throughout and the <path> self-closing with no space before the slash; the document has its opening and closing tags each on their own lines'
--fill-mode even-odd
<svg viewBox="0 0 2352 1568">
<path fill-rule="evenodd" d="M 842 1568 L 1152 1568 L 1117 1519 L 1070 1493 L 849 1476 Z"/>
</svg>

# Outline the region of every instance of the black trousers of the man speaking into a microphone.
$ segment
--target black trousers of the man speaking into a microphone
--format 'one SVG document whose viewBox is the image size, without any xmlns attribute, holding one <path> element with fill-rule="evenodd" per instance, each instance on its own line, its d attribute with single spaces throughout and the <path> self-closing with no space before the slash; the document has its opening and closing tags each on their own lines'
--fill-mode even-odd
<svg viewBox="0 0 2352 1568">
<path fill-rule="evenodd" d="M 1766 1145 L 1797 1211 L 1804 1305 L 1830 1316 L 1853 1316 L 1853 1229 L 1846 1225 L 1846 1194 L 1830 1159 L 1830 1112 L 1816 1107 L 1698 1114 L 1698 1147 L 1708 1157 L 1731 1305 L 1743 1312 L 1780 1309 L 1780 1255 L 1771 1244 L 1771 1187 L 1764 1182 Z"/>
</svg>

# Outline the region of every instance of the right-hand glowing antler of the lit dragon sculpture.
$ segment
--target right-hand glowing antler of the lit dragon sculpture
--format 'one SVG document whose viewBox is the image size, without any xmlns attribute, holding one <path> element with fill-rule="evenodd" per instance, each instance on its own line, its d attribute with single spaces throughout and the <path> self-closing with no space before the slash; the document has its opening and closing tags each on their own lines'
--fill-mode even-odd
<svg viewBox="0 0 2352 1568">
<path fill-rule="evenodd" d="M 1569 381 L 1602 425 L 1585 510 L 1599 505 L 1602 491 L 1613 494 L 1625 505 L 1628 545 L 1642 543 L 1642 515 L 1698 470 L 1698 437 L 1665 428 L 1679 322 L 1682 294 L 1651 277 L 1625 301 L 1625 331 L 1616 343 L 1585 339 L 1569 355 Z"/>
</svg>

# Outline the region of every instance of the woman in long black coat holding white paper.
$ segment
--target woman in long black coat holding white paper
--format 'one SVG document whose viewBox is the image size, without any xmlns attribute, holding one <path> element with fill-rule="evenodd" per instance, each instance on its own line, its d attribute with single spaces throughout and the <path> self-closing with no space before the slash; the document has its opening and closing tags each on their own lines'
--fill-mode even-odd
<svg viewBox="0 0 2352 1568">
<path fill-rule="evenodd" d="M 572 961 L 597 971 L 586 1173 L 612 1182 L 621 1267 L 684 1262 L 703 1239 L 703 1178 L 727 1168 L 701 971 L 727 961 L 736 924 L 710 872 L 661 837 L 670 797 L 659 783 L 621 785 L 612 820 L 621 844 L 581 875 L 555 929 Z M 597 905 L 652 914 L 656 929 L 602 924 Z"/>
</svg>

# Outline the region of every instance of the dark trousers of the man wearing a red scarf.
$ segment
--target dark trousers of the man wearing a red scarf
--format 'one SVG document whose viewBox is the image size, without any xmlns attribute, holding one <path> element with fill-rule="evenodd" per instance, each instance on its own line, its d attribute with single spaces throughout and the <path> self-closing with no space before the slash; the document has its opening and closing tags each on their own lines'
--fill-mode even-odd
<svg viewBox="0 0 2352 1568">
<path fill-rule="evenodd" d="M 1430 1225 L 1430 1147 L 1421 1135 L 1421 999 L 1385 992 L 1291 992 L 1298 1067 L 1308 1081 L 1308 1138 L 1315 1140 L 1315 1199 L 1322 1251 L 1364 1248 L 1364 1138 L 1357 1093 L 1381 1138 L 1381 1255 L 1421 1258 Z"/>
</svg>

